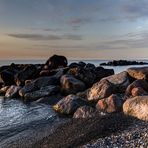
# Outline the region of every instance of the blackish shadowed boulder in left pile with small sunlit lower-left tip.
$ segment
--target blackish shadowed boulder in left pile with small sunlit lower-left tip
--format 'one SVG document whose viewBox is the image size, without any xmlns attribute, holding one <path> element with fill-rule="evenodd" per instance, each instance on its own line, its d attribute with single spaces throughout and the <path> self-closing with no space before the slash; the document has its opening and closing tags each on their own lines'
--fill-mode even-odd
<svg viewBox="0 0 148 148">
<path fill-rule="evenodd" d="M 35 79 L 37 74 L 38 71 L 35 65 L 27 65 L 15 76 L 15 82 L 17 86 L 23 86 L 25 84 L 25 80 Z"/>
</svg>

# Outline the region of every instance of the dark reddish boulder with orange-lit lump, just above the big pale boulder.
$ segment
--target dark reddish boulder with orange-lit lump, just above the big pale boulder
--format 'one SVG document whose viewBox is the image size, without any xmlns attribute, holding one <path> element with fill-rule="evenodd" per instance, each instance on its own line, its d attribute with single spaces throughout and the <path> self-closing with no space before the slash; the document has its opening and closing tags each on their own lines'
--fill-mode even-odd
<svg viewBox="0 0 148 148">
<path fill-rule="evenodd" d="M 131 83 L 126 91 L 126 96 L 138 96 L 145 95 L 148 93 L 148 82 L 145 80 L 136 80 Z"/>
</svg>

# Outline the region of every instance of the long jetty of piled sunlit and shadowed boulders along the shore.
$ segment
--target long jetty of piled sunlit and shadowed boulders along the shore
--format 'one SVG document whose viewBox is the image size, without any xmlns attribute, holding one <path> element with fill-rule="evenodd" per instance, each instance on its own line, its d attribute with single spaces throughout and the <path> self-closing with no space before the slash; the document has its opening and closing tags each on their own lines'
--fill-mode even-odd
<svg viewBox="0 0 148 148">
<path fill-rule="evenodd" d="M 111 64 L 134 65 L 135 62 Z M 60 116 L 90 122 L 96 117 L 99 120 L 109 117 L 111 121 L 110 116 L 114 119 L 114 114 L 124 114 L 148 121 L 148 67 L 129 68 L 114 74 L 113 69 L 91 63 L 68 65 L 66 57 L 53 55 L 45 64 L 2 66 L 0 77 L 0 94 L 5 99 L 46 103 Z"/>
</svg>

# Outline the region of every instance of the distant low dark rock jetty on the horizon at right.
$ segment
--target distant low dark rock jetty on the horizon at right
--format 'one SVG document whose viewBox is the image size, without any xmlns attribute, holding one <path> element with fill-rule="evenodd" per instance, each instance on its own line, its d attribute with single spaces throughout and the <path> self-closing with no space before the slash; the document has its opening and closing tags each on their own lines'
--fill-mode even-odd
<svg viewBox="0 0 148 148">
<path fill-rule="evenodd" d="M 126 66 L 126 65 L 146 65 L 147 62 L 127 61 L 127 60 L 113 60 L 107 63 L 101 63 L 101 66 Z"/>
</svg>

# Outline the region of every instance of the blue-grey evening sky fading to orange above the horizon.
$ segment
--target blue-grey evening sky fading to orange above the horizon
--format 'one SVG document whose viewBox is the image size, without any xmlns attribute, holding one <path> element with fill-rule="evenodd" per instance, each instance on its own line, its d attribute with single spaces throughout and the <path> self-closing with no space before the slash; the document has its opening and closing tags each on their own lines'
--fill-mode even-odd
<svg viewBox="0 0 148 148">
<path fill-rule="evenodd" d="M 0 0 L 0 59 L 148 59 L 147 0 Z"/>
</svg>

